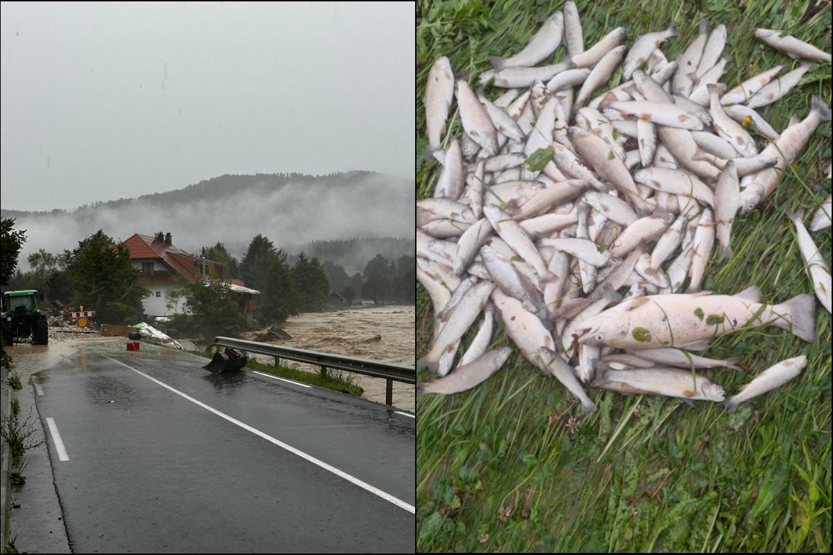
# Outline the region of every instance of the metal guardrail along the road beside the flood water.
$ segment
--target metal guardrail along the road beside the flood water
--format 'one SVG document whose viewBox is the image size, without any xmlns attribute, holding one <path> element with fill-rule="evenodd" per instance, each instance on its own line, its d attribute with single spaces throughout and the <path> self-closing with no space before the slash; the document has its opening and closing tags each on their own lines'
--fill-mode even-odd
<svg viewBox="0 0 833 555">
<path fill-rule="evenodd" d="M 287 359 L 306 364 L 315 364 L 316 366 L 320 366 L 322 370 L 334 368 L 346 370 L 347 372 L 355 372 L 356 374 L 365 374 L 374 378 L 384 378 L 387 380 L 385 403 L 388 405 L 393 404 L 393 381 L 416 385 L 416 369 L 406 364 L 361 359 L 344 354 L 319 353 L 318 351 L 307 349 L 294 349 L 292 347 L 282 347 L 281 345 L 271 343 L 260 343 L 258 341 L 246 341 L 244 339 L 233 339 L 232 337 L 222 336 L 217 336 L 212 340 L 211 344 L 208 345 L 208 349 L 212 347 L 231 347 L 232 349 L 250 353 L 267 354 L 275 357 L 276 365 L 279 359 Z"/>
</svg>

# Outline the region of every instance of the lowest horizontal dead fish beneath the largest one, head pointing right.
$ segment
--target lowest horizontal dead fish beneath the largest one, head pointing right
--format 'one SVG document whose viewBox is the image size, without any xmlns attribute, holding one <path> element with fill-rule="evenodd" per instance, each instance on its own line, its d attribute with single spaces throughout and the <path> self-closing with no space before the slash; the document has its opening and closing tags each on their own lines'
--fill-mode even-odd
<svg viewBox="0 0 833 555">
<path fill-rule="evenodd" d="M 696 400 L 720 403 L 726 399 L 726 392 L 720 385 L 705 376 L 681 369 L 615 370 L 602 365 L 596 368 L 596 379 L 591 385 L 621 394 L 678 397 L 689 405 L 693 405 Z"/>
</svg>

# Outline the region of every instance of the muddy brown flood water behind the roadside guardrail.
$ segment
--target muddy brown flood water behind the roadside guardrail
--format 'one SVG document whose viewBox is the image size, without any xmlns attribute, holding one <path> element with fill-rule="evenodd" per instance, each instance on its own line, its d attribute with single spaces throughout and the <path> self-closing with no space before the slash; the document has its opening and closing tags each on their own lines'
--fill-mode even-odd
<svg viewBox="0 0 833 555">
<path fill-rule="evenodd" d="M 298 349 L 324 353 L 347 354 L 363 359 L 375 359 L 401 364 L 414 364 L 414 315 L 412 305 L 372 306 L 334 312 L 312 312 L 292 316 L 282 327 L 292 339 L 273 341 Z M 272 362 L 265 357 L 264 362 Z M 290 363 L 317 372 L 317 366 Z M 355 383 L 364 389 L 364 397 L 378 403 L 385 402 L 384 379 L 362 374 L 351 374 Z M 413 385 L 393 382 L 393 404 L 397 409 L 416 408 Z"/>
</svg>

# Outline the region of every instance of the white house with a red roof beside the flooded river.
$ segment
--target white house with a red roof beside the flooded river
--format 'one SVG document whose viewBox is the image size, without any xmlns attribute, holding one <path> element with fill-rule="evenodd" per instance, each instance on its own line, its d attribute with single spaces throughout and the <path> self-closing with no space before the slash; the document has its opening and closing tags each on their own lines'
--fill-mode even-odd
<svg viewBox="0 0 833 555">
<path fill-rule="evenodd" d="M 123 241 L 123 245 L 130 251 L 133 267 L 140 271 L 139 283 L 151 292 L 151 296 L 142 301 L 144 314 L 148 316 L 186 312 L 185 300 L 172 296 L 180 289 L 177 277 L 196 283 L 212 275 L 222 275 L 222 264 L 174 246 L 170 232 L 157 231 L 153 236 L 136 233 Z M 257 310 L 254 295 L 259 295 L 260 291 L 247 288 L 241 280 L 231 280 L 228 285 L 241 295 L 241 310 L 251 319 Z"/>
</svg>

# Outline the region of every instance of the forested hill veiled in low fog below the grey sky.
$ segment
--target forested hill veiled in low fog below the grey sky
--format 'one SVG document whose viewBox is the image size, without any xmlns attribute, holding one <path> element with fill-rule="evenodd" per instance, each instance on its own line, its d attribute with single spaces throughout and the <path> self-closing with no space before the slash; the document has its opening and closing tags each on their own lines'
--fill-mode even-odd
<svg viewBox="0 0 833 555">
<path fill-rule="evenodd" d="M 74 211 L 0 210 L 0 216 L 15 218 L 15 229 L 27 230 L 18 262 L 22 270 L 27 270 L 27 255 L 32 252 L 72 250 L 99 229 L 116 240 L 134 233 L 170 232 L 174 245 L 195 254 L 202 246 L 221 241 L 239 259 L 258 233 L 287 252 L 313 241 L 378 237 L 412 241 L 414 187 L 414 181 L 370 171 L 226 175 L 176 191 L 102 201 Z"/>
</svg>

